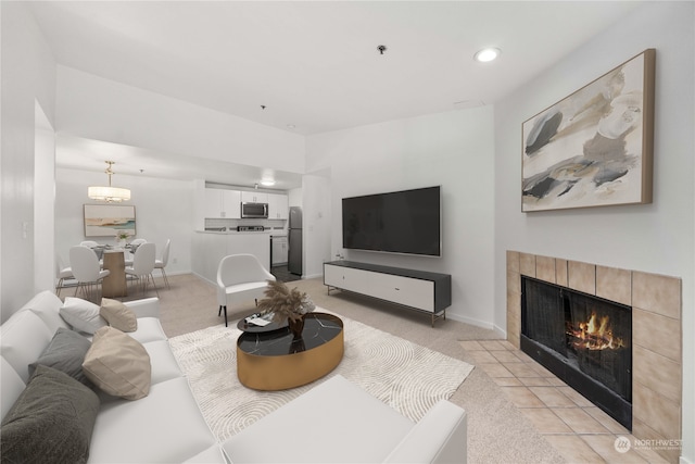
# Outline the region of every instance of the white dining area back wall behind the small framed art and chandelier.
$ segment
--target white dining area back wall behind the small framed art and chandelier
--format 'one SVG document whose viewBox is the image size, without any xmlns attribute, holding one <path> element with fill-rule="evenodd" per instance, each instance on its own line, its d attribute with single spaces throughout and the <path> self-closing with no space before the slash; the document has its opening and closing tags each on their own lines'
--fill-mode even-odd
<svg viewBox="0 0 695 464">
<path fill-rule="evenodd" d="M 86 239 L 83 205 L 96 203 L 87 197 L 87 187 L 105 183 L 106 175 L 103 173 L 56 170 L 55 251 L 65 262 L 68 261 L 70 247 Z M 162 255 L 166 240 L 172 239 L 166 274 L 190 273 L 193 181 L 116 173 L 113 184 L 130 189 L 130 201 L 127 204 L 135 205 L 136 237 L 156 243 L 157 258 Z M 89 240 L 115 243 L 115 237 L 96 237 Z M 155 272 L 154 276 L 159 277 L 159 274 Z"/>
</svg>

